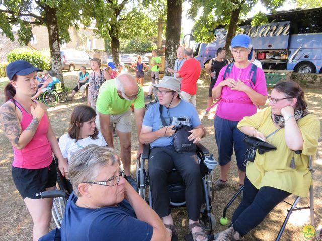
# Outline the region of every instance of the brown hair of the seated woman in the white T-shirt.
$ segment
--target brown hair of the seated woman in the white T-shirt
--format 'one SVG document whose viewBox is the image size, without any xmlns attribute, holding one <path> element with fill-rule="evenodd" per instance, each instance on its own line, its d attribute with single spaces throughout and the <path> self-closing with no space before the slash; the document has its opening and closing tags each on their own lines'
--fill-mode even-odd
<svg viewBox="0 0 322 241">
<path fill-rule="evenodd" d="M 96 117 L 96 112 L 88 105 L 80 105 L 74 108 L 70 117 L 70 124 L 68 128 L 68 135 L 70 138 L 79 140 L 81 133 L 81 126 L 83 122 L 88 122 L 90 119 Z M 98 139 L 99 130 L 95 127 L 94 134 L 91 135 L 92 139 Z"/>
</svg>

